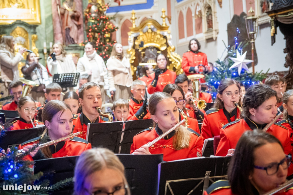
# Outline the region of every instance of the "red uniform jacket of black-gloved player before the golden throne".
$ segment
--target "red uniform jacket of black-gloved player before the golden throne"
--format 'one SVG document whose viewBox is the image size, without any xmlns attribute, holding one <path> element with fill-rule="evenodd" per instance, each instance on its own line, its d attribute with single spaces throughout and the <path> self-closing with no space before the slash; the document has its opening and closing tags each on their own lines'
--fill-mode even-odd
<svg viewBox="0 0 293 195">
<path fill-rule="evenodd" d="M 147 86 L 147 91 L 149 94 L 153 94 L 157 91 L 163 91 L 167 84 L 175 83 L 176 73 L 170 70 L 166 70 L 164 73 L 159 75 L 158 80 L 155 80 L 155 73 L 149 75 L 151 83 Z"/>
</svg>

